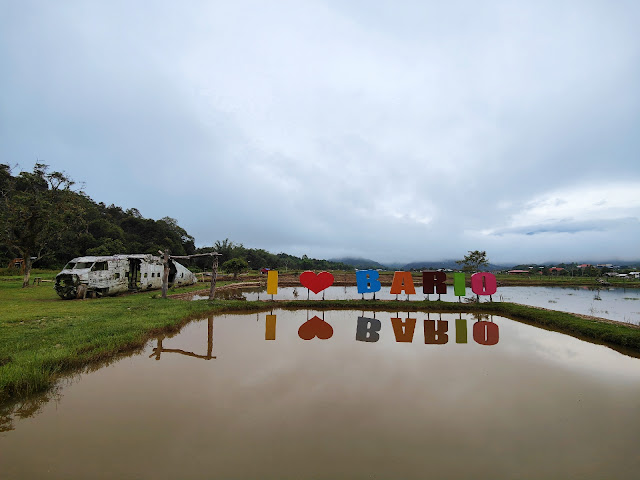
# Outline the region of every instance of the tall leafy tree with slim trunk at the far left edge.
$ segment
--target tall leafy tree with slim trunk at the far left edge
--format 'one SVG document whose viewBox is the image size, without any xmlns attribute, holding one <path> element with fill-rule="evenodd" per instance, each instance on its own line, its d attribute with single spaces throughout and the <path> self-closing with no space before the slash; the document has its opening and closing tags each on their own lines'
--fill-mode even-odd
<svg viewBox="0 0 640 480">
<path fill-rule="evenodd" d="M 24 259 L 22 286 L 29 285 L 34 262 L 77 226 L 82 207 L 74 182 L 62 172 L 36 163 L 33 172 L 11 175 L 0 165 L 0 241 Z"/>
</svg>

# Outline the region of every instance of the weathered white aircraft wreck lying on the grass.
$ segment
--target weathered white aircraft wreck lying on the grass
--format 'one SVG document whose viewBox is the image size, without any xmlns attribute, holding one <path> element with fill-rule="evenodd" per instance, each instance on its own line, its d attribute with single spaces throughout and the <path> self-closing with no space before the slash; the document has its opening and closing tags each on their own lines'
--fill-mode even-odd
<svg viewBox="0 0 640 480">
<path fill-rule="evenodd" d="M 153 255 L 78 257 L 56 275 L 55 289 L 64 299 L 85 295 L 116 295 L 122 292 L 162 288 L 163 260 Z M 196 276 L 169 260 L 169 286 L 192 285 Z"/>
</svg>

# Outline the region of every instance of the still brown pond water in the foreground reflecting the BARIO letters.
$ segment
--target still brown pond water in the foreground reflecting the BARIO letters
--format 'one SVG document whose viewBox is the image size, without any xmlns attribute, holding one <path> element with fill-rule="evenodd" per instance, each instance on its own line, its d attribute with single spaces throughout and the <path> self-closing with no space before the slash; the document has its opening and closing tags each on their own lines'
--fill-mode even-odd
<svg viewBox="0 0 640 480">
<path fill-rule="evenodd" d="M 499 317 L 481 345 L 430 314 L 438 345 L 427 314 L 397 342 L 406 314 L 325 312 L 303 340 L 322 313 L 273 313 L 75 378 L 0 434 L 0 478 L 638 478 L 638 359 Z"/>
</svg>

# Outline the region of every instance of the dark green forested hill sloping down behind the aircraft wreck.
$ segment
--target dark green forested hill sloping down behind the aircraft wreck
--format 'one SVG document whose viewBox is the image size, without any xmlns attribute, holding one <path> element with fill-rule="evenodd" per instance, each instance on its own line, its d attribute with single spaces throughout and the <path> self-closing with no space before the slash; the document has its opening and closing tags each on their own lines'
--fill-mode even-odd
<svg viewBox="0 0 640 480">
<path fill-rule="evenodd" d="M 196 249 L 195 239 L 173 218 L 153 220 L 135 208 L 96 203 L 75 190 L 66 174 L 50 172 L 44 164 L 17 175 L 0 164 L 0 268 L 15 257 L 36 257 L 36 267 L 59 268 L 84 255 L 157 255 L 165 249 L 173 255 L 218 251 L 220 263 L 241 258 L 251 268 L 352 269 L 340 262 L 245 248 L 228 239 Z M 211 268 L 206 261 L 191 266 Z"/>
</svg>

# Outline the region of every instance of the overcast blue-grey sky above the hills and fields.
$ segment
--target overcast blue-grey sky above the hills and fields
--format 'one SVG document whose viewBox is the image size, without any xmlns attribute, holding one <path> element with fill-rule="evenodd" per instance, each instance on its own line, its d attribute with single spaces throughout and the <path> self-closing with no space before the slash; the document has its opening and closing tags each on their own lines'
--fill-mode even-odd
<svg viewBox="0 0 640 480">
<path fill-rule="evenodd" d="M 0 0 L 0 163 L 198 246 L 640 258 L 640 2 Z"/>
</svg>

